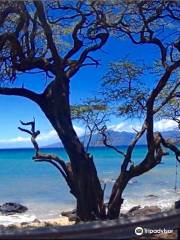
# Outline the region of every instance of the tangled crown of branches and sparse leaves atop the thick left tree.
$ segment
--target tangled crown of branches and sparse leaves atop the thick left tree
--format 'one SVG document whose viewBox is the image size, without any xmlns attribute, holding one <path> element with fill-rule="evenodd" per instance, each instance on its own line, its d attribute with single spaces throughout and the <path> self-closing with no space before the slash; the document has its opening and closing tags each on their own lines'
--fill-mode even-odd
<svg viewBox="0 0 180 240">
<path fill-rule="evenodd" d="M 83 66 L 98 64 L 89 53 L 108 37 L 95 2 L 2 1 L 0 13 L 1 83 L 36 68 L 54 75 L 54 57 L 71 77 Z"/>
</svg>

